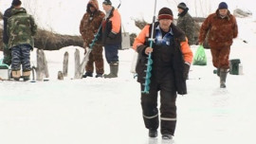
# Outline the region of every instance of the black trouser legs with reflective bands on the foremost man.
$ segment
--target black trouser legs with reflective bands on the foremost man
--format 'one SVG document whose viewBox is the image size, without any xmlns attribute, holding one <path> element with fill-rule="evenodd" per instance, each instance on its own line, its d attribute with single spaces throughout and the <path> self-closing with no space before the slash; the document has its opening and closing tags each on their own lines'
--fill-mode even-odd
<svg viewBox="0 0 256 144">
<path fill-rule="evenodd" d="M 161 134 L 174 135 L 176 127 L 176 91 L 174 79 L 156 81 L 150 83 L 150 93 L 141 94 L 141 107 L 144 124 L 147 129 L 156 130 L 159 126 L 157 93 L 160 92 L 160 126 Z M 144 85 L 141 84 L 141 91 Z"/>
</svg>

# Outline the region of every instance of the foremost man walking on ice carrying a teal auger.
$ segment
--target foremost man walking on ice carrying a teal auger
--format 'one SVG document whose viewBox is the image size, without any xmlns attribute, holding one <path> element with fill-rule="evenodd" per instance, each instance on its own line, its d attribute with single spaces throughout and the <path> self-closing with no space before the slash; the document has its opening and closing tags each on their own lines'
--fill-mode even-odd
<svg viewBox="0 0 256 144">
<path fill-rule="evenodd" d="M 137 81 L 141 91 L 144 90 L 145 70 L 149 53 L 152 54 L 152 77 L 149 94 L 141 93 L 141 107 L 144 124 L 149 129 L 149 136 L 157 136 L 159 126 L 157 95 L 160 94 L 160 131 L 163 139 L 172 139 L 176 126 L 176 93 L 187 94 L 186 78 L 192 63 L 192 50 L 184 32 L 173 24 L 173 11 L 160 9 L 158 21 L 145 26 L 137 38 L 133 48 L 138 53 L 136 67 Z M 151 31 L 155 38 L 150 47 Z"/>
</svg>

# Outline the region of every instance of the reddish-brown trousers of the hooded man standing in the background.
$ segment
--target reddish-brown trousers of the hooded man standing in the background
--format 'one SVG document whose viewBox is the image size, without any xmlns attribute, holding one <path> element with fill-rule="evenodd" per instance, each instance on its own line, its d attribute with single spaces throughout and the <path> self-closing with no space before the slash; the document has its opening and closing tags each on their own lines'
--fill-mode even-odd
<svg viewBox="0 0 256 144">
<path fill-rule="evenodd" d="M 104 63 L 102 58 L 102 45 L 94 45 L 93 49 L 89 55 L 89 61 L 85 66 L 86 72 L 93 73 L 94 71 L 94 63 L 96 67 L 97 74 L 104 73 Z"/>
</svg>

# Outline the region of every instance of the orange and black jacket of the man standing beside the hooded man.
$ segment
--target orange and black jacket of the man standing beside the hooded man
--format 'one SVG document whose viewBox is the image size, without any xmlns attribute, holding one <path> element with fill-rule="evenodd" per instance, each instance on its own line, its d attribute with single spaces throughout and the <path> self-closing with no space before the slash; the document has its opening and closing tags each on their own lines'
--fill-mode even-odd
<svg viewBox="0 0 256 144">
<path fill-rule="evenodd" d="M 118 9 L 111 9 L 108 18 L 102 22 L 101 41 L 103 45 L 121 45 L 121 19 Z"/>
</svg>

